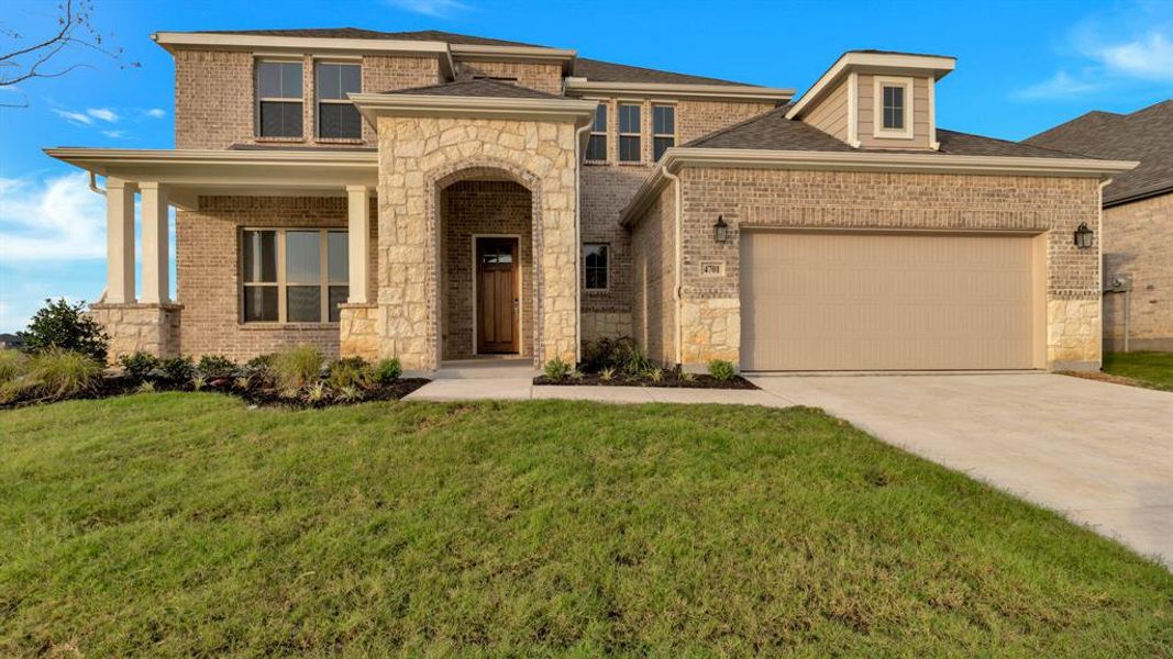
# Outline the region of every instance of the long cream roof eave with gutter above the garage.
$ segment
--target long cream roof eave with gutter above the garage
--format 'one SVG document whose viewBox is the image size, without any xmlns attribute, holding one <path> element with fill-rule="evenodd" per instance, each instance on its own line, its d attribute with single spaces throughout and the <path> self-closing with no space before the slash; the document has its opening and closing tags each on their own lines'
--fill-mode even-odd
<svg viewBox="0 0 1173 659">
<path fill-rule="evenodd" d="M 674 147 L 659 163 L 619 216 L 630 225 L 663 188 L 664 171 L 684 167 L 726 167 L 746 169 L 796 169 L 825 171 L 890 171 L 901 174 L 967 174 L 1110 178 L 1135 168 L 1132 161 L 1093 158 L 1039 158 L 1023 156 L 960 156 L 949 154 L 886 154 L 848 151 L 786 151 L 773 149 L 705 149 Z"/>
</svg>

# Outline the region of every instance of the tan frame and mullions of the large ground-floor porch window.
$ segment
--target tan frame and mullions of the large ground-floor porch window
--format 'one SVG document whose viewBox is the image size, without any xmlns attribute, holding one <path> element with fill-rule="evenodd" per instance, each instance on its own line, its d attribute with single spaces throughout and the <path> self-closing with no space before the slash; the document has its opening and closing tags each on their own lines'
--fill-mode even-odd
<svg viewBox="0 0 1173 659">
<path fill-rule="evenodd" d="M 274 247 L 277 251 L 277 280 L 276 281 L 245 281 L 244 272 L 244 235 L 249 231 L 272 231 L 274 236 Z M 289 231 L 317 231 L 318 239 L 318 277 L 317 286 L 319 293 L 318 320 L 289 320 L 289 287 L 290 286 L 313 286 L 313 283 L 290 281 L 285 276 L 285 235 Z M 240 226 L 237 232 L 237 270 L 240 278 L 239 293 L 237 295 L 237 324 L 243 327 L 282 327 L 282 326 L 337 326 L 338 320 L 330 320 L 330 287 L 343 286 L 344 284 L 330 281 L 330 235 L 346 235 L 345 226 Z M 346 254 L 347 261 L 350 253 Z M 348 272 L 348 270 L 347 270 Z M 345 286 L 350 287 L 347 279 Z M 274 287 L 277 288 L 277 320 L 245 320 L 244 318 L 244 292 L 249 287 Z"/>
</svg>

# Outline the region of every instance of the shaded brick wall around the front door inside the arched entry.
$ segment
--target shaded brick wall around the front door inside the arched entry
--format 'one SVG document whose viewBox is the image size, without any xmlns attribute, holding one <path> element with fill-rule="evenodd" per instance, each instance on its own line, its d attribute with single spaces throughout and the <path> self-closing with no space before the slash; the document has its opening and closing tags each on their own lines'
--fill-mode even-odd
<svg viewBox="0 0 1173 659">
<path fill-rule="evenodd" d="M 529 190 L 513 181 L 460 181 L 441 191 L 442 359 L 475 355 L 473 236 L 516 235 L 521 277 L 520 354 L 534 354 L 534 231 Z"/>
</svg>

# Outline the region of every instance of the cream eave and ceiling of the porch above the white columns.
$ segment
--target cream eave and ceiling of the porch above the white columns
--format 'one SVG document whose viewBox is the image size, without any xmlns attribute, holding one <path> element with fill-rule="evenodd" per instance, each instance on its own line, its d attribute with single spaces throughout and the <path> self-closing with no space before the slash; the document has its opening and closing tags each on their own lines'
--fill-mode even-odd
<svg viewBox="0 0 1173 659">
<path fill-rule="evenodd" d="M 344 196 L 347 185 L 378 184 L 373 151 L 210 151 L 195 149 L 46 149 L 46 155 L 91 174 L 168 188 L 175 205 L 199 195 Z"/>
</svg>

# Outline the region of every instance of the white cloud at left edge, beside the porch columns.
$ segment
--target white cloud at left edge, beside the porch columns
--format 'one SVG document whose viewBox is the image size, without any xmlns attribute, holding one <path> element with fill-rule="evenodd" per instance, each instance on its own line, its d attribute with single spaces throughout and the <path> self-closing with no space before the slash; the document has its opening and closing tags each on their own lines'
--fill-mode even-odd
<svg viewBox="0 0 1173 659">
<path fill-rule="evenodd" d="M 106 258 L 106 203 L 86 172 L 43 181 L 0 178 L 0 259 Z"/>
</svg>

